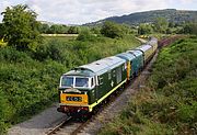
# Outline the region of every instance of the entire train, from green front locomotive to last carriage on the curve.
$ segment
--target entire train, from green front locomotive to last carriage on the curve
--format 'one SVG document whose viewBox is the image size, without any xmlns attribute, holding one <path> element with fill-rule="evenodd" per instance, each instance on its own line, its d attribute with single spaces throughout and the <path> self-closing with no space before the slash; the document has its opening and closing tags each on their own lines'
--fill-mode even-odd
<svg viewBox="0 0 197 135">
<path fill-rule="evenodd" d="M 79 66 L 60 77 L 59 112 L 74 116 L 92 112 L 118 88 L 139 75 L 158 48 L 158 40 L 116 56 Z"/>
</svg>

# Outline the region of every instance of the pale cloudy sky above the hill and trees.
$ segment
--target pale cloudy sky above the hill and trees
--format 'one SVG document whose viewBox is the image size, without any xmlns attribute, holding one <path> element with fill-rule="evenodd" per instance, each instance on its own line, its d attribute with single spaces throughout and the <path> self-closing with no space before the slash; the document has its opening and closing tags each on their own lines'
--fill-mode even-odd
<svg viewBox="0 0 197 135">
<path fill-rule="evenodd" d="M 84 24 L 108 16 L 161 9 L 197 11 L 197 0 L 0 0 L 0 12 L 16 4 L 27 4 L 38 14 L 38 21 L 60 24 Z M 0 15 L 0 22 L 2 18 Z"/>
</svg>

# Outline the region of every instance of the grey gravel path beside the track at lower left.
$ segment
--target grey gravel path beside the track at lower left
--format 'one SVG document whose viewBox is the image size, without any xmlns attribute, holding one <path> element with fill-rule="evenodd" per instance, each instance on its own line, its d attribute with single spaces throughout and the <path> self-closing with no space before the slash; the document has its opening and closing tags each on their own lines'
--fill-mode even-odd
<svg viewBox="0 0 197 135">
<path fill-rule="evenodd" d="M 8 135 L 45 135 L 49 128 L 54 127 L 65 119 L 65 114 L 57 112 L 58 103 L 33 116 L 31 120 L 11 127 Z"/>
</svg>

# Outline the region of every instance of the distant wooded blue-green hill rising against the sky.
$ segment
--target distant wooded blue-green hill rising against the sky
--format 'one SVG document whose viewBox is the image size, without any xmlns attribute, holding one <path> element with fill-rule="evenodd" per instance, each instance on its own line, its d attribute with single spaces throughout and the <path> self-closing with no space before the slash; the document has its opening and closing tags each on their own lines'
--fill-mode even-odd
<svg viewBox="0 0 197 135">
<path fill-rule="evenodd" d="M 152 23 L 157 18 L 160 16 L 165 18 L 170 22 L 175 22 L 175 23 L 197 21 L 197 11 L 175 10 L 175 9 L 153 10 L 153 11 L 131 13 L 121 16 L 106 18 L 104 20 L 100 20 L 93 23 L 88 23 L 85 25 L 99 25 L 105 21 L 114 21 L 117 23 L 137 25 L 139 23 Z"/>
</svg>

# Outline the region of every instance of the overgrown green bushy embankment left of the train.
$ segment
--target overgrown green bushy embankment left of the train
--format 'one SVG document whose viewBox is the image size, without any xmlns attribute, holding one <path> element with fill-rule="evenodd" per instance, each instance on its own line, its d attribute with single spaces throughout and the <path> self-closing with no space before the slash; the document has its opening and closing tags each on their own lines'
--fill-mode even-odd
<svg viewBox="0 0 197 135">
<path fill-rule="evenodd" d="M 34 52 L 1 47 L 0 134 L 57 101 L 59 77 L 63 72 L 137 45 L 139 42 L 134 36 L 84 41 L 50 37 Z"/>
</svg>

